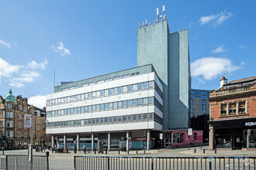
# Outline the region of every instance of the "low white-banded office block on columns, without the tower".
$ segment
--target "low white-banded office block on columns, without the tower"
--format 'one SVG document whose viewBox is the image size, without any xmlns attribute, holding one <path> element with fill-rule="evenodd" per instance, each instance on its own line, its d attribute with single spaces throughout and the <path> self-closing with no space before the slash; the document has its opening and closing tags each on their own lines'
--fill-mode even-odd
<svg viewBox="0 0 256 170">
<path fill-rule="evenodd" d="M 93 149 L 99 139 L 108 148 L 154 147 L 154 132 L 162 131 L 163 87 L 152 65 L 57 88 L 47 95 L 54 146 Z"/>
</svg>

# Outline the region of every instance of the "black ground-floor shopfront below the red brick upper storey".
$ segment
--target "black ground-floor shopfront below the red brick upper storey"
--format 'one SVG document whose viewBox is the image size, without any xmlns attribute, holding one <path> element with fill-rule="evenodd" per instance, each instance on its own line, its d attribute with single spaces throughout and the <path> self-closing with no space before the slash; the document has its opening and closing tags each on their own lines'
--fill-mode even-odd
<svg viewBox="0 0 256 170">
<path fill-rule="evenodd" d="M 215 148 L 256 149 L 256 118 L 209 121 L 214 129 Z"/>
</svg>

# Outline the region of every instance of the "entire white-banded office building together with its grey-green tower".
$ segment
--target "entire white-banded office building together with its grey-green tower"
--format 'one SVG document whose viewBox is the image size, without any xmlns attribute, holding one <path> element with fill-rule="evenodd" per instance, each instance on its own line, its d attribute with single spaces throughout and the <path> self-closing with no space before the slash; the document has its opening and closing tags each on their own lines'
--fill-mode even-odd
<svg viewBox="0 0 256 170">
<path fill-rule="evenodd" d="M 182 136 L 190 121 L 188 37 L 188 29 L 170 32 L 157 10 L 157 21 L 137 30 L 137 67 L 54 87 L 47 95 L 52 145 L 150 149 L 161 147 L 163 130 Z"/>
</svg>

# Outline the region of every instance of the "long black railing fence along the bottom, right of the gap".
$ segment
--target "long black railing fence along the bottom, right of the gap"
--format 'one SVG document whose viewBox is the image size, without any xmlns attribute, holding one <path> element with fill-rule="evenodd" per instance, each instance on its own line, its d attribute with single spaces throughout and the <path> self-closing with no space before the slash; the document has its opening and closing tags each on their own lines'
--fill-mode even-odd
<svg viewBox="0 0 256 170">
<path fill-rule="evenodd" d="M 256 169 L 256 157 L 104 157 L 74 156 L 75 170 Z"/>
</svg>

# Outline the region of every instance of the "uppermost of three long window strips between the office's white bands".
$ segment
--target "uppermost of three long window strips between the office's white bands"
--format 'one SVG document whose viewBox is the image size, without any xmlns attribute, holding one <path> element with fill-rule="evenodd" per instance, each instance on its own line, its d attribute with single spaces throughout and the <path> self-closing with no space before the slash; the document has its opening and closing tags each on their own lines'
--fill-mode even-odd
<svg viewBox="0 0 256 170">
<path fill-rule="evenodd" d="M 130 84 L 128 86 L 123 86 L 123 87 L 114 87 L 106 90 L 98 90 L 98 91 L 93 91 L 89 93 L 81 93 L 81 94 L 77 94 L 69 97 L 61 97 L 53 100 L 47 100 L 47 107 L 54 106 L 57 104 L 67 104 L 71 102 L 89 100 L 89 99 L 99 98 L 99 97 L 108 97 L 108 96 L 122 94 L 122 93 L 131 93 L 131 92 L 137 92 L 140 90 L 149 90 L 149 89 L 154 89 L 154 87 L 156 86 L 157 84 L 154 83 L 154 81 L 150 81 L 150 82 L 144 82 L 144 83 Z"/>
</svg>

